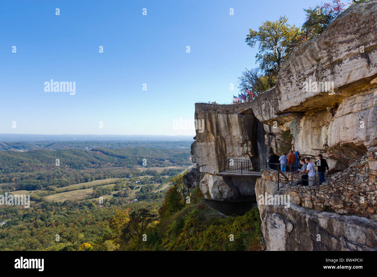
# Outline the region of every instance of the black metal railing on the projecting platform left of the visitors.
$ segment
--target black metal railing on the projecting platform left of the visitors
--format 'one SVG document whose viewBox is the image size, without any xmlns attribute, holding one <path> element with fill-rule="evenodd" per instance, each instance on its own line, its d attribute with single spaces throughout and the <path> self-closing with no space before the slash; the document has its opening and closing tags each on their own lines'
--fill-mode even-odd
<svg viewBox="0 0 377 277">
<path fill-rule="evenodd" d="M 219 173 L 260 174 L 267 168 L 267 161 L 226 159 L 219 161 Z"/>
</svg>

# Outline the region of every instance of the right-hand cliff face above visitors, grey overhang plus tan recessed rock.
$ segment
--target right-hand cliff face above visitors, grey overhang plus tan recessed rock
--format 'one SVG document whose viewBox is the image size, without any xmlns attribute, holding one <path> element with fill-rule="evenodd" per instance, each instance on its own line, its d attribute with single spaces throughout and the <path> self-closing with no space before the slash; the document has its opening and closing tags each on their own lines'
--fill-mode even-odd
<svg viewBox="0 0 377 277">
<path fill-rule="evenodd" d="M 276 87 L 252 102 L 258 120 L 289 130 L 301 154 L 321 153 L 336 170 L 377 146 L 376 18 L 377 1 L 348 8 L 288 57 Z M 320 82 L 330 82 L 336 94 Z"/>
</svg>

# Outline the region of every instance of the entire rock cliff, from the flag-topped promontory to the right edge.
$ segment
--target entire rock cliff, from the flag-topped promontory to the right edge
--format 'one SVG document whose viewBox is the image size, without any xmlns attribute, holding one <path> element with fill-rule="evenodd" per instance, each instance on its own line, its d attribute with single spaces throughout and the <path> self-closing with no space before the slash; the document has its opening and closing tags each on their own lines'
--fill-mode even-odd
<svg viewBox="0 0 377 277">
<path fill-rule="evenodd" d="M 184 177 L 187 186 L 218 200 L 292 196 L 290 207 L 258 204 L 268 250 L 377 249 L 376 20 L 377 0 L 351 6 L 287 58 L 276 87 L 248 103 L 195 104 L 205 130 L 196 130 L 197 167 Z M 221 160 L 280 155 L 284 133 L 303 156 L 322 154 L 339 171 L 331 184 L 277 191 L 273 177 L 217 174 Z"/>
</svg>

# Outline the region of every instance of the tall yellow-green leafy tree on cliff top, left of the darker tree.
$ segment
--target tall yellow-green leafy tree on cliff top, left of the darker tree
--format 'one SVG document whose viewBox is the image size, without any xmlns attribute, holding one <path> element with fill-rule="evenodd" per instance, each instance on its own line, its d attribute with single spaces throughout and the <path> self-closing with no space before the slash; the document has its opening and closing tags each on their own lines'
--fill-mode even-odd
<svg viewBox="0 0 377 277">
<path fill-rule="evenodd" d="M 276 21 L 265 21 L 259 26 L 258 31 L 249 29 L 246 43 L 255 47 L 259 43 L 259 52 L 256 62 L 261 64 L 261 69 L 266 73 L 277 75 L 285 59 L 289 56 L 287 46 L 292 40 L 297 39 L 300 29 L 287 24 L 288 18 L 280 16 Z"/>
</svg>

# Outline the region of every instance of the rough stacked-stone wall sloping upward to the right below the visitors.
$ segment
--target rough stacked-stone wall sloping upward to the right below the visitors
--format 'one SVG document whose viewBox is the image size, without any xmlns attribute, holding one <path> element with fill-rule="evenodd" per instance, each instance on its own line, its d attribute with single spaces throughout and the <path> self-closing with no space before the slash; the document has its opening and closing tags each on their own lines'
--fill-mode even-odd
<svg viewBox="0 0 377 277">
<path fill-rule="evenodd" d="M 377 220 L 376 159 L 377 148 L 322 185 L 302 187 L 288 184 L 290 201 L 307 208 Z"/>
</svg>

